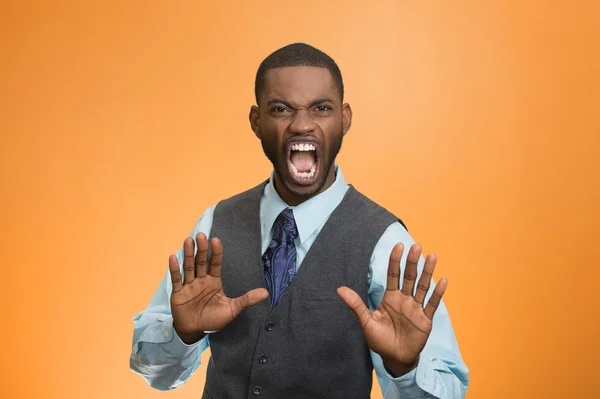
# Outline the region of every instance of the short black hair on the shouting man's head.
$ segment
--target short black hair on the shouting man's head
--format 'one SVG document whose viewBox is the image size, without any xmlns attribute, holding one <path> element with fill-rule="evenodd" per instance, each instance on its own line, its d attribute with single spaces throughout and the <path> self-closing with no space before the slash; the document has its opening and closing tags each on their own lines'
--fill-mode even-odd
<svg viewBox="0 0 600 399">
<path fill-rule="evenodd" d="M 269 69 L 295 66 L 327 68 L 333 78 L 333 83 L 340 91 L 341 101 L 344 101 L 344 81 L 342 80 L 340 68 L 338 68 L 335 61 L 321 50 L 309 44 L 292 43 L 279 50 L 275 50 L 260 63 L 256 72 L 256 80 L 254 81 L 256 104 L 258 104 L 258 95 L 265 87 L 265 75 Z"/>
</svg>

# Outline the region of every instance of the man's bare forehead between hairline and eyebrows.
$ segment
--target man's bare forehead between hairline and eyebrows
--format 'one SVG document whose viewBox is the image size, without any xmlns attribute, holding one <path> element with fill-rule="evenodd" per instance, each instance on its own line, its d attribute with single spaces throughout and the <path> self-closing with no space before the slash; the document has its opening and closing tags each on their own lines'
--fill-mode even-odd
<svg viewBox="0 0 600 399">
<path fill-rule="evenodd" d="M 317 98 L 339 98 L 329 70 L 311 66 L 268 70 L 263 93 L 264 101 L 279 98 L 298 104 L 309 103 Z"/>
</svg>

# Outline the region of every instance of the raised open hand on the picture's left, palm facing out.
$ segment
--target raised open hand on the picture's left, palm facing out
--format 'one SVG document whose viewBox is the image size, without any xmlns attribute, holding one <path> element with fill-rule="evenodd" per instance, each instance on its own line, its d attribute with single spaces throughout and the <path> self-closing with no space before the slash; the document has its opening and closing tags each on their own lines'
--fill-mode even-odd
<svg viewBox="0 0 600 399">
<path fill-rule="evenodd" d="M 198 251 L 195 257 L 194 240 L 188 237 L 183 243 L 183 280 L 177 257 L 175 255 L 169 257 L 169 270 L 173 283 L 171 293 L 173 326 L 181 340 L 188 345 L 202 339 L 206 332 L 223 329 L 242 310 L 269 297 L 266 289 L 256 288 L 238 298 L 228 298 L 223 292 L 221 281 L 223 259 L 221 241 L 218 238 L 211 240 L 212 254 L 208 272 L 206 235 L 198 233 L 196 243 Z"/>
</svg>

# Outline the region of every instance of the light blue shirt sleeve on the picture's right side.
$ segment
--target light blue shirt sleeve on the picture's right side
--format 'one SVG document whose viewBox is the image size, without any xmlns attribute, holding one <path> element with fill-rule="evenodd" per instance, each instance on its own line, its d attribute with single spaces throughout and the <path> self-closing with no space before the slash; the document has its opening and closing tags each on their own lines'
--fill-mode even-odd
<svg viewBox="0 0 600 399">
<path fill-rule="evenodd" d="M 400 286 L 404 278 L 404 268 L 409 248 L 415 243 L 406 229 L 398 222 L 392 224 L 375 246 L 369 267 L 369 308 L 375 310 L 383 298 L 387 283 L 387 267 L 392 248 L 397 243 L 404 244 L 400 262 Z M 425 265 L 421 256 L 418 263 L 420 278 Z M 435 283 L 432 281 L 425 298 L 431 297 Z M 377 380 L 385 399 L 404 398 L 464 398 L 469 384 L 469 371 L 462 360 L 450 316 L 444 301 L 433 317 L 433 327 L 429 339 L 421 352 L 417 368 L 401 377 L 394 378 L 383 365 L 381 357 L 371 351 Z"/>
</svg>

